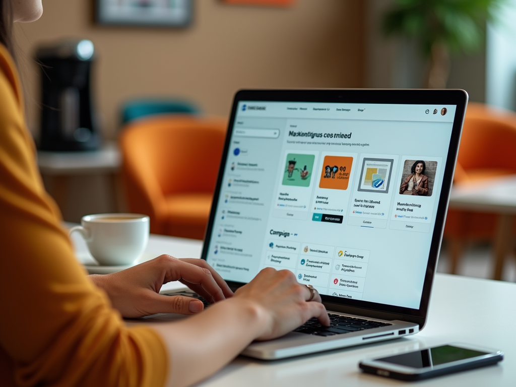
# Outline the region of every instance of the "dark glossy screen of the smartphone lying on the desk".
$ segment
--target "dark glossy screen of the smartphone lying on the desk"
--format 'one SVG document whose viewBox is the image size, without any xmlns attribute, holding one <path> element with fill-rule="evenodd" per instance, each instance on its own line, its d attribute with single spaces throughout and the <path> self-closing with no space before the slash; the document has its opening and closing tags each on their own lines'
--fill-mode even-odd
<svg viewBox="0 0 516 387">
<path fill-rule="evenodd" d="M 441 347 L 426 348 L 421 351 L 403 353 L 387 358 L 376 359 L 378 361 L 404 365 L 413 368 L 425 368 L 435 365 L 446 364 L 458 360 L 475 358 L 487 355 L 488 352 L 474 351 L 471 349 L 443 345 Z"/>
</svg>

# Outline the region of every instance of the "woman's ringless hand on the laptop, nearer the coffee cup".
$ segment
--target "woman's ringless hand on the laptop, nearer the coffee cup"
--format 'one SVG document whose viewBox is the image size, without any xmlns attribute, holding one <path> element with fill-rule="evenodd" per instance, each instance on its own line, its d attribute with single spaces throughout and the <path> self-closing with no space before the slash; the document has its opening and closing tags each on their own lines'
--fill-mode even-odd
<svg viewBox="0 0 516 387">
<path fill-rule="evenodd" d="M 233 296 L 228 284 L 206 261 L 177 259 L 170 255 L 89 278 L 104 289 L 113 307 L 124 317 L 155 313 L 195 314 L 203 310 L 203 303 L 195 298 L 159 294 L 161 286 L 171 281 L 181 282 L 210 303 Z"/>
</svg>

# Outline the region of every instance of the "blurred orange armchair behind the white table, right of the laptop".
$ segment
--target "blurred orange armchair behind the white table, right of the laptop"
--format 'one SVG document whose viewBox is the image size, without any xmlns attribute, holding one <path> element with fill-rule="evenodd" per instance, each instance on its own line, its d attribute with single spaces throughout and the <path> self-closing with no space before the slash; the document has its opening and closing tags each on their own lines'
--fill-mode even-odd
<svg viewBox="0 0 516 387">
<path fill-rule="evenodd" d="M 515 150 L 516 114 L 470 103 L 464 119 L 454 183 L 470 184 L 516 174 Z M 457 271 L 465 241 L 491 240 L 496 224 L 495 214 L 448 210 L 444 237 L 449 243 L 452 273 Z"/>
</svg>

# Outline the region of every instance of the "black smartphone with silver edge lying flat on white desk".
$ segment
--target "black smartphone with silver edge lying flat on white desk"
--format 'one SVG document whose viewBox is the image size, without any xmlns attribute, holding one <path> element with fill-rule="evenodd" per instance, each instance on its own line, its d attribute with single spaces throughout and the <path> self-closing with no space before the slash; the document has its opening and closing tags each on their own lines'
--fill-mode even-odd
<svg viewBox="0 0 516 387">
<path fill-rule="evenodd" d="M 466 344 L 447 344 L 379 359 L 364 359 L 359 367 L 366 373 L 401 380 L 421 380 L 470 368 L 496 364 L 502 351 Z"/>
</svg>

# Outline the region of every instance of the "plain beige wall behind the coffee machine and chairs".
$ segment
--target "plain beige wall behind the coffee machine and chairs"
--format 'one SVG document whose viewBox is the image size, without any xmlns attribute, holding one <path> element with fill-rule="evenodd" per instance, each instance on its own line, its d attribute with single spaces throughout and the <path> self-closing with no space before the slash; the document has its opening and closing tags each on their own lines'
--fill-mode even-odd
<svg viewBox="0 0 516 387">
<path fill-rule="evenodd" d="M 297 0 L 286 9 L 196 0 L 193 23 L 185 29 L 96 26 L 92 4 L 46 0 L 38 22 L 16 27 L 27 55 L 20 61 L 31 129 L 39 126 L 39 69 L 30 57 L 41 42 L 63 38 L 95 45 L 95 105 L 109 138 L 121 103 L 134 97 L 179 96 L 208 114 L 227 116 L 240 88 L 363 86 L 359 0 Z"/>
</svg>

